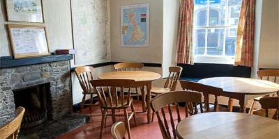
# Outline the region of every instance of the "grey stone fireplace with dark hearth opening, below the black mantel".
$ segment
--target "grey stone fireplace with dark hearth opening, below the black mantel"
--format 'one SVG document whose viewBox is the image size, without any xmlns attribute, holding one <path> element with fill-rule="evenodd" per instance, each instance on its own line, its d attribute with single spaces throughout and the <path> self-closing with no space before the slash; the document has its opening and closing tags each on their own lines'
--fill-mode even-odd
<svg viewBox="0 0 279 139">
<path fill-rule="evenodd" d="M 22 94 L 27 92 L 29 94 Z M 33 101 L 33 106 L 27 101 Z M 15 108 L 22 105 L 30 110 L 27 111 L 27 116 L 33 115 L 38 120 L 45 118 L 45 114 L 47 119 L 57 120 L 72 113 L 69 60 L 1 67 L 0 126 L 13 119 Z M 30 118 L 25 122 L 37 121 Z"/>
</svg>

